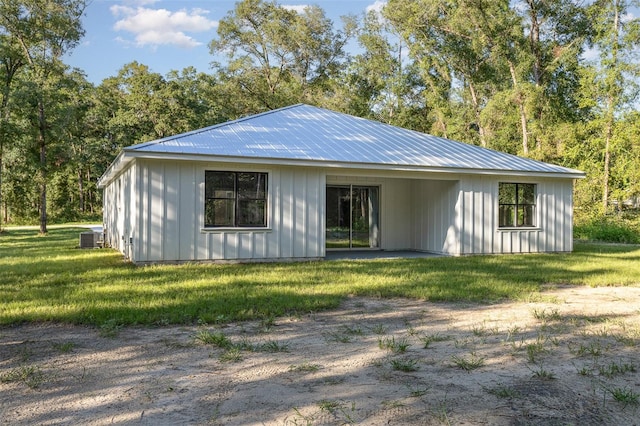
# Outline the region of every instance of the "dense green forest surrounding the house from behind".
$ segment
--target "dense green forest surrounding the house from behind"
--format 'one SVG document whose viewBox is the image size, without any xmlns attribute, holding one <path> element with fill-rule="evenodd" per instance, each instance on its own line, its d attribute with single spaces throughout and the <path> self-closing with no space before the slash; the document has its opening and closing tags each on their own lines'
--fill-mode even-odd
<svg viewBox="0 0 640 426">
<path fill-rule="evenodd" d="M 64 62 L 88 3 L 0 0 L 0 228 L 100 221 L 121 148 L 307 103 L 583 170 L 575 235 L 640 242 L 635 0 L 389 0 L 341 22 L 242 0 L 211 72 L 132 62 L 99 85 Z"/>
</svg>

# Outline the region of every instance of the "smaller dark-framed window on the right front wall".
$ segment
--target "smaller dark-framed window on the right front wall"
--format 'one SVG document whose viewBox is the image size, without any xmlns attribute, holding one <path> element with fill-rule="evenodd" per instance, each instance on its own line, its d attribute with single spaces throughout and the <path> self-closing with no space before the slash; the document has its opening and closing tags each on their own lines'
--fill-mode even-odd
<svg viewBox="0 0 640 426">
<path fill-rule="evenodd" d="M 536 226 L 536 185 L 499 183 L 498 215 L 500 228 Z"/>
</svg>

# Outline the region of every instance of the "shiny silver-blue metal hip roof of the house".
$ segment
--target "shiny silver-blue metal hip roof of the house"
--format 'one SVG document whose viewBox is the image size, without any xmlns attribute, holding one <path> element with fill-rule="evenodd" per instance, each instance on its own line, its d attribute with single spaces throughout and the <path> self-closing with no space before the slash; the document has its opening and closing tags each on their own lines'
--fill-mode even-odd
<svg viewBox="0 0 640 426">
<path fill-rule="evenodd" d="M 233 157 L 247 162 L 270 159 L 372 168 L 407 166 L 436 171 L 584 176 L 578 170 L 304 104 L 124 149 L 125 156 L 145 157 L 152 153 Z"/>
</svg>

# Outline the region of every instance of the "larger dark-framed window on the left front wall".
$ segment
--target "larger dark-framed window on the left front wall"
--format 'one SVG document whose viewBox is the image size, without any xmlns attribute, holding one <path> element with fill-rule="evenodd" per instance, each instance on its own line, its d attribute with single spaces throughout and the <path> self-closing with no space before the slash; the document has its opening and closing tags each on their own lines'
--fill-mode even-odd
<svg viewBox="0 0 640 426">
<path fill-rule="evenodd" d="M 205 172 L 205 227 L 267 226 L 267 174 Z"/>
</svg>

